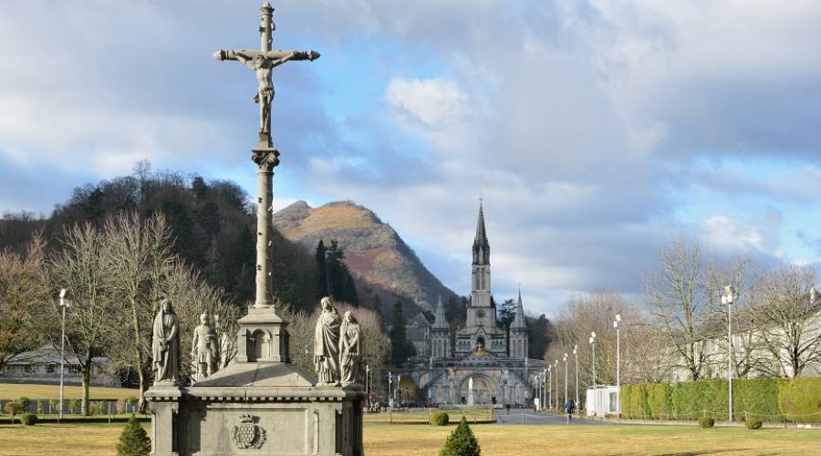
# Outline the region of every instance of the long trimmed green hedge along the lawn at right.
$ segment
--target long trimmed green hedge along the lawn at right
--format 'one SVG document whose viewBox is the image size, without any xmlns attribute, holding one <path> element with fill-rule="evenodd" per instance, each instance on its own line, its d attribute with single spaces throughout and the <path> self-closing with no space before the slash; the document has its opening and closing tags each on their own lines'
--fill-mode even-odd
<svg viewBox="0 0 821 456">
<path fill-rule="evenodd" d="M 621 412 L 625 418 L 698 420 L 706 415 L 726 419 L 727 380 L 623 385 Z M 821 422 L 821 377 L 733 379 L 733 415 L 743 412 L 764 421 Z"/>
</svg>

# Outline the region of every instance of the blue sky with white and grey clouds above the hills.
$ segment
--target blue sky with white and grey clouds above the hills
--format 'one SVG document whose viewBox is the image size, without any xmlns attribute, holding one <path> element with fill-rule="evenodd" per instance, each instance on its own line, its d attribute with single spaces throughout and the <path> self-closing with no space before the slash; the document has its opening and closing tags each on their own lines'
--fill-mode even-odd
<svg viewBox="0 0 821 456">
<path fill-rule="evenodd" d="M 0 211 L 136 161 L 254 190 L 260 0 L 4 0 Z M 494 291 L 638 298 L 683 236 L 821 259 L 821 2 L 279 0 L 279 208 L 352 200 L 452 289 L 484 199 Z"/>
</svg>

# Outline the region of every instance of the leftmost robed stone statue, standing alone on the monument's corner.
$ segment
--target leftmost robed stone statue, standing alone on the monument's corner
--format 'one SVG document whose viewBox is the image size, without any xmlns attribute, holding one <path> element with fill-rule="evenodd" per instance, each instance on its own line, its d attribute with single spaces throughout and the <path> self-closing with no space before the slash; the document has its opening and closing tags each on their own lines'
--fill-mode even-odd
<svg viewBox="0 0 821 456">
<path fill-rule="evenodd" d="M 180 383 L 180 321 L 170 299 L 163 299 L 154 317 L 151 353 L 154 384 Z"/>
</svg>

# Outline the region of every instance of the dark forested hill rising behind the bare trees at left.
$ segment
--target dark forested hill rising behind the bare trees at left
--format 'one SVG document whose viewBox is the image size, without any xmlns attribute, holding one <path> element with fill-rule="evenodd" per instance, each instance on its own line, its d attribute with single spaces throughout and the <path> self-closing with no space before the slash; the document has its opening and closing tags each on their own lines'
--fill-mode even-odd
<svg viewBox="0 0 821 456">
<path fill-rule="evenodd" d="M 0 220 L 0 250 L 21 251 L 33 233 L 42 232 L 49 247 L 64 227 L 99 225 L 106 216 L 135 210 L 161 212 L 175 238 L 174 254 L 202 272 L 238 305 L 254 298 L 255 206 L 236 183 L 206 181 L 178 171 L 151 171 L 140 162 L 130 176 L 74 189 L 68 201 L 46 217 L 31 212 L 6 213 Z M 312 306 L 315 263 L 302 246 L 275 231 L 275 293 L 296 308 Z"/>
</svg>

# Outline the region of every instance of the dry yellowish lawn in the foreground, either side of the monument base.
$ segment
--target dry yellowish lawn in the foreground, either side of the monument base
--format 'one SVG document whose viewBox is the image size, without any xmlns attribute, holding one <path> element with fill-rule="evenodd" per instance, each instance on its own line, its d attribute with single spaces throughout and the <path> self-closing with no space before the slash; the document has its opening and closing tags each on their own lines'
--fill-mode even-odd
<svg viewBox="0 0 821 456">
<path fill-rule="evenodd" d="M 122 424 L 0 426 L 0 454 L 113 455 Z M 148 425 L 145 425 L 148 429 Z M 670 426 L 472 426 L 482 454 L 821 454 L 818 430 L 746 430 Z M 365 453 L 435 455 L 453 426 L 365 425 Z"/>
</svg>

